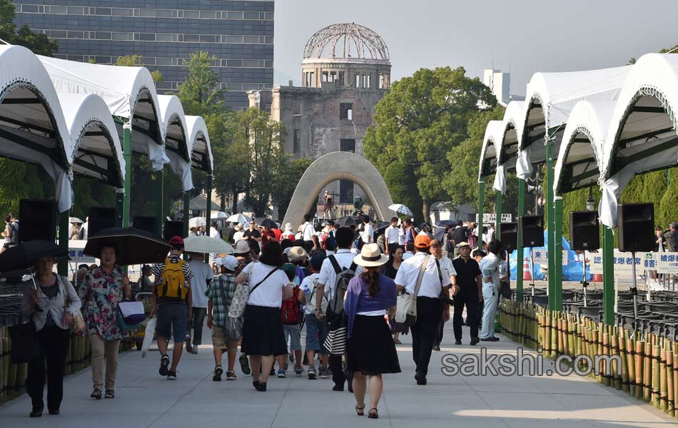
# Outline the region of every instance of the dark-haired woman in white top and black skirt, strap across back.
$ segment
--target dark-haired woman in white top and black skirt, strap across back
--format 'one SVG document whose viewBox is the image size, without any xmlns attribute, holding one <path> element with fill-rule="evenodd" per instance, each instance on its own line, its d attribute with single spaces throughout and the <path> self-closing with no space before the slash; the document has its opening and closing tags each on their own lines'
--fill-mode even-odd
<svg viewBox="0 0 678 428">
<path fill-rule="evenodd" d="M 292 287 L 280 270 L 282 265 L 280 243 L 270 240 L 263 246 L 259 261 L 247 265 L 236 277 L 236 285 L 247 281 L 250 290 L 243 322 L 243 348 L 250 357 L 252 384 L 261 392 L 266 390 L 275 357 L 287 355 L 280 307 L 283 300 L 292 297 Z"/>
</svg>

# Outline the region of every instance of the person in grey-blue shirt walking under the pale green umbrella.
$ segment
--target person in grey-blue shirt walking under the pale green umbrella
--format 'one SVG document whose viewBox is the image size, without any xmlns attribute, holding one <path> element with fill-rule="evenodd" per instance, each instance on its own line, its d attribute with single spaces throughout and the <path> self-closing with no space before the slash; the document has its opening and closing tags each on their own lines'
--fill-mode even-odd
<svg viewBox="0 0 678 428">
<path fill-rule="evenodd" d="M 205 255 L 198 253 L 188 254 L 191 260 L 188 265 L 193 270 L 191 280 L 191 296 L 193 297 L 193 317 L 188 318 L 186 323 L 186 351 L 191 354 L 198 353 L 198 345 L 203 341 L 203 322 L 207 315 L 207 296 L 205 292 L 213 278 L 212 268 L 203 262 Z M 193 344 L 191 345 L 191 327 L 193 328 Z"/>
</svg>

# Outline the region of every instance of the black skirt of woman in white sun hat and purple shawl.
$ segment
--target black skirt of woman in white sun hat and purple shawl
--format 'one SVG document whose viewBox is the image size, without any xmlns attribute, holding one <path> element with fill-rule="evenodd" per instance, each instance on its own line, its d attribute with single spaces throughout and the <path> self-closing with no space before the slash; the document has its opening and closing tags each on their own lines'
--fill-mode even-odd
<svg viewBox="0 0 678 428">
<path fill-rule="evenodd" d="M 384 317 L 355 315 L 346 350 L 349 372 L 400 373 L 398 352 Z"/>
</svg>

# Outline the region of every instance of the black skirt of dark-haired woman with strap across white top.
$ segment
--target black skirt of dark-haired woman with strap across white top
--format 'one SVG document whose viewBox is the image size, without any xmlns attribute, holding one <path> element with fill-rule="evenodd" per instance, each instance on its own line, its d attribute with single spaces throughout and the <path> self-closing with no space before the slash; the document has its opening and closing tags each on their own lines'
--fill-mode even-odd
<svg viewBox="0 0 678 428">
<path fill-rule="evenodd" d="M 243 350 L 246 355 L 287 355 L 279 307 L 245 307 Z"/>
</svg>

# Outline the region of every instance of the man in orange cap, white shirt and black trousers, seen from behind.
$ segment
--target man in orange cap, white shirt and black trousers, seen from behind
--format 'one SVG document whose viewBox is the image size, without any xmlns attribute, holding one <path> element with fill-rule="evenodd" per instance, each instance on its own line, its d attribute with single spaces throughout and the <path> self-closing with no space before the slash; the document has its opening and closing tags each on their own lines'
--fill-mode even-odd
<svg viewBox="0 0 678 428">
<path fill-rule="evenodd" d="M 403 261 L 395 275 L 398 291 L 417 296 L 417 322 L 412 330 L 412 357 L 416 365 L 415 379 L 418 385 L 426 384 L 428 363 L 431 360 L 435 330 L 442 315 L 440 295 L 449 292 L 450 277 L 442 273 L 440 262 L 429 254 L 431 240 L 428 235 L 417 235 L 414 257 Z M 424 265 L 426 263 L 426 265 Z M 424 268 L 421 284 L 416 292 L 420 270 Z"/>
</svg>

